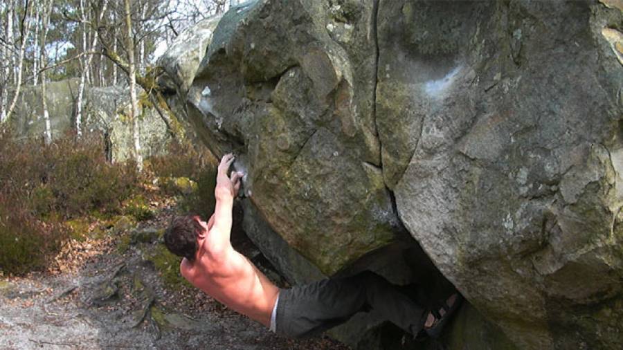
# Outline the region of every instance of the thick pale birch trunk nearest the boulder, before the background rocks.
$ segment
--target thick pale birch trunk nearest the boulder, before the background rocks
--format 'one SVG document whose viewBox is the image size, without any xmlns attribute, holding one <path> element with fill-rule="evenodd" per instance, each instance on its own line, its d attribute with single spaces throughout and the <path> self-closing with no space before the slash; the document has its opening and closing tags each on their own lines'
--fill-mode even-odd
<svg viewBox="0 0 623 350">
<path fill-rule="evenodd" d="M 134 38 L 132 34 L 132 17 L 130 12 L 130 0 L 125 0 L 125 25 L 127 26 L 127 60 L 129 64 L 129 89 L 132 101 L 132 134 L 134 136 L 134 160 L 138 171 L 143 171 L 143 155 L 141 154 L 141 133 L 138 130 L 138 100 L 136 98 L 136 64 L 134 63 Z"/>
</svg>

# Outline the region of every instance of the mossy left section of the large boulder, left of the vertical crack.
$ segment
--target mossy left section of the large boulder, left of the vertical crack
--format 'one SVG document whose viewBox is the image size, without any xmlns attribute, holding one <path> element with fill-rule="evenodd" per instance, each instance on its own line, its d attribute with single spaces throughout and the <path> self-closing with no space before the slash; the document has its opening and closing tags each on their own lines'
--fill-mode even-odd
<svg viewBox="0 0 623 350">
<path fill-rule="evenodd" d="M 373 37 L 352 37 L 345 46 L 363 57 L 350 59 L 325 28 L 324 5 L 273 1 L 227 12 L 188 100 L 210 149 L 242 154 L 237 166 L 262 217 L 332 274 L 392 241 L 398 221 L 373 142 L 374 56 L 361 54 Z M 372 3 L 356 11 L 362 27 L 372 21 Z M 359 80 L 368 84 L 355 89 Z"/>
</svg>

